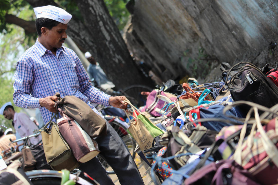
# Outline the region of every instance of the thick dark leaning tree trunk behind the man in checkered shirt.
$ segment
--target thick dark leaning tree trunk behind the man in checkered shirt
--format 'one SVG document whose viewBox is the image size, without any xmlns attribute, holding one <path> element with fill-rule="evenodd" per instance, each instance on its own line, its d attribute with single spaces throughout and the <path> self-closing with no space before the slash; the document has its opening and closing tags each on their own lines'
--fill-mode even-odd
<svg viewBox="0 0 278 185">
<path fill-rule="evenodd" d="M 44 5 L 59 7 L 53 0 L 26 1 L 33 7 Z M 67 33 L 81 50 L 89 51 L 94 56 L 117 88 L 134 84 L 152 84 L 151 79 L 140 72 L 131 58 L 104 1 L 80 0 L 76 3 L 84 21 L 72 17 L 68 23 Z"/>
</svg>

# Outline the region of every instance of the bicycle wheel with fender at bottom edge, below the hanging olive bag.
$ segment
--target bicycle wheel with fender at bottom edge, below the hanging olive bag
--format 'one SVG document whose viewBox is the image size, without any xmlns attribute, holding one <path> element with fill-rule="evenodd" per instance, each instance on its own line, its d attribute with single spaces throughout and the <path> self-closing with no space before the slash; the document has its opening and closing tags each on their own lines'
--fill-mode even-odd
<svg viewBox="0 0 278 185">
<path fill-rule="evenodd" d="M 34 185 L 60 185 L 62 172 L 61 171 L 54 171 L 54 170 L 32 170 L 25 172 L 30 181 Z M 76 175 L 69 174 L 69 179 L 74 179 Z M 78 177 L 78 181 L 76 182 L 77 185 L 93 185 L 92 183 L 88 182 L 87 180 Z"/>
</svg>

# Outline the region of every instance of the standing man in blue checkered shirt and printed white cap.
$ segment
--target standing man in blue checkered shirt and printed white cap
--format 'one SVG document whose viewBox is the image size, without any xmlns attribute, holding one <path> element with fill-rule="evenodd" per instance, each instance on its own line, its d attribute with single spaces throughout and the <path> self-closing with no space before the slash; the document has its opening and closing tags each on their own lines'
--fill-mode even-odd
<svg viewBox="0 0 278 185">
<path fill-rule="evenodd" d="M 98 115 L 100 113 L 91 103 L 127 108 L 127 103 L 123 103 L 126 97 L 112 97 L 94 88 L 76 53 L 62 46 L 67 38 L 67 23 L 72 16 L 54 6 L 37 7 L 34 12 L 39 37 L 17 62 L 14 104 L 22 108 L 39 108 L 45 124 L 51 119 L 52 112 L 57 112 L 57 97 L 53 96 L 56 92 L 61 97 L 78 97 Z M 107 136 L 99 136 L 95 140 L 102 155 L 116 172 L 120 184 L 144 184 L 120 136 L 107 121 L 106 125 Z M 79 169 L 100 184 L 114 184 L 97 158 L 81 163 Z"/>
</svg>

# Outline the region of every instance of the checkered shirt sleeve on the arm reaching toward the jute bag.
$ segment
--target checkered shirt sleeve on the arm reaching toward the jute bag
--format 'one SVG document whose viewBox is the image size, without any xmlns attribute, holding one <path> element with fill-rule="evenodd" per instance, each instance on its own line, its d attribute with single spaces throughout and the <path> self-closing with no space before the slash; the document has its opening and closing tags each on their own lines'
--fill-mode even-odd
<svg viewBox="0 0 278 185">
<path fill-rule="evenodd" d="M 82 66 L 77 56 L 76 56 L 76 74 L 78 76 L 80 92 L 82 92 L 86 97 L 88 97 L 91 103 L 97 103 L 97 104 L 109 106 L 109 98 L 111 96 L 105 94 L 102 91 L 99 91 L 97 88 L 91 85 L 91 83 L 89 82 L 88 74 L 86 73 L 84 67 Z"/>
</svg>

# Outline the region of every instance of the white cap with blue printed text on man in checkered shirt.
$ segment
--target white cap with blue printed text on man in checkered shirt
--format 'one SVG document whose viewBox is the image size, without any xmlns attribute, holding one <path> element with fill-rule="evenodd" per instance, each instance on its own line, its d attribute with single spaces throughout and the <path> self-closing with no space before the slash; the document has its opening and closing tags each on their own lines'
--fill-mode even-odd
<svg viewBox="0 0 278 185">
<path fill-rule="evenodd" d="M 52 5 L 36 7 L 34 8 L 34 12 L 37 18 L 49 18 L 64 24 L 67 24 L 72 18 L 72 15 L 62 8 Z"/>
</svg>

